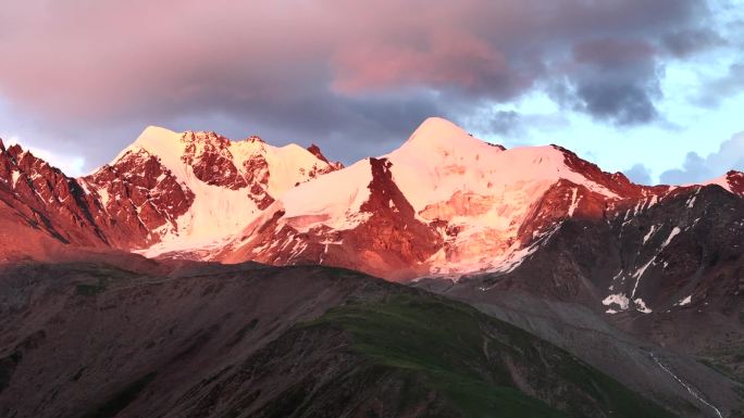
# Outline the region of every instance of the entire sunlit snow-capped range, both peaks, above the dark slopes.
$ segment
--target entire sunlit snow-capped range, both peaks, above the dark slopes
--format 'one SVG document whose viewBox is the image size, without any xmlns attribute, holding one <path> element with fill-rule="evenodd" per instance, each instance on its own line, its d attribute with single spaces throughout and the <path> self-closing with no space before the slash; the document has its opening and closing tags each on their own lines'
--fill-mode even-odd
<svg viewBox="0 0 744 418">
<path fill-rule="evenodd" d="M 442 118 L 346 168 L 314 145 L 157 127 L 79 179 L 18 147 L 2 156 L 5 203 L 62 242 L 396 280 L 512 271 L 566 219 L 629 217 L 696 190 L 634 185 L 560 147 L 507 150 Z M 706 187 L 741 195 L 743 178 Z"/>
</svg>

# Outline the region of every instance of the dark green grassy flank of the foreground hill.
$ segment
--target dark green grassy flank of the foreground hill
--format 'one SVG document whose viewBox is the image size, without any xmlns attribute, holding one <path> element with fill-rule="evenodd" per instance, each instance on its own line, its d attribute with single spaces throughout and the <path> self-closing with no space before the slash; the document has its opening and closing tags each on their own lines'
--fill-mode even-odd
<svg viewBox="0 0 744 418">
<path fill-rule="evenodd" d="M 443 393 L 464 417 L 671 416 L 570 354 L 423 292 L 352 302 L 305 327 L 349 332 L 354 352 Z"/>
</svg>

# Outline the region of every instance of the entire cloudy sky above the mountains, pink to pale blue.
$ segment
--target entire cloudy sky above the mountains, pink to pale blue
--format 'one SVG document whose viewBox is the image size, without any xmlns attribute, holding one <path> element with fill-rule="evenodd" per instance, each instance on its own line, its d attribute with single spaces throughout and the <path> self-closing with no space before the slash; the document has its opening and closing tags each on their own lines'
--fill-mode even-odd
<svg viewBox="0 0 744 418">
<path fill-rule="evenodd" d="M 352 163 L 429 116 L 643 183 L 744 169 L 744 0 L 24 0 L 0 138 L 72 176 L 149 125 Z"/>
</svg>

